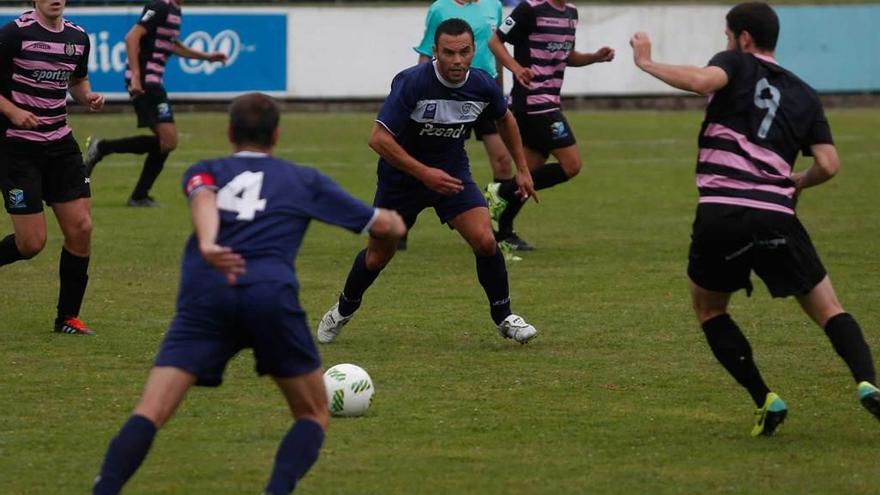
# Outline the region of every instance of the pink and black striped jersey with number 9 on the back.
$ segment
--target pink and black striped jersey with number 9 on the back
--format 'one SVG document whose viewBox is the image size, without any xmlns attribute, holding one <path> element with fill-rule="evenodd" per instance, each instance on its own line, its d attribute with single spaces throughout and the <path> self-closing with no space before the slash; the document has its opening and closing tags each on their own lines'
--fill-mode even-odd
<svg viewBox="0 0 880 495">
<path fill-rule="evenodd" d="M 772 58 L 739 51 L 709 61 L 727 73 L 700 130 L 700 203 L 794 214 L 791 180 L 798 153 L 833 144 L 815 90 Z"/>
</svg>

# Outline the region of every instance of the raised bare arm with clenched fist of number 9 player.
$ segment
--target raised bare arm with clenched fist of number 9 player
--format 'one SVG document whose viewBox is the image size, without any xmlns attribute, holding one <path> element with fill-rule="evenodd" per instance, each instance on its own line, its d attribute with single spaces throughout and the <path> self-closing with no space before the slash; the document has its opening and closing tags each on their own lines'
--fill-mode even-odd
<svg viewBox="0 0 880 495">
<path fill-rule="evenodd" d="M 727 72 L 720 67 L 696 67 L 693 65 L 670 65 L 651 59 L 651 38 L 647 33 L 636 33 L 630 38 L 633 61 L 639 69 L 666 84 L 700 95 L 710 95 L 727 86 Z"/>
</svg>

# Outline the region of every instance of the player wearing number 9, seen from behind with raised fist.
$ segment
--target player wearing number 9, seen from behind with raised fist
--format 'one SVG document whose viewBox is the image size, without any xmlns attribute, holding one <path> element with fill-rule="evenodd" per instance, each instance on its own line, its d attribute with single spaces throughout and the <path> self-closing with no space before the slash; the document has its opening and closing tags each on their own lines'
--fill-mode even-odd
<svg viewBox="0 0 880 495">
<path fill-rule="evenodd" d="M 707 67 L 651 59 L 651 41 L 636 33 L 636 65 L 670 86 L 712 95 L 700 129 L 700 193 L 688 277 L 697 318 L 712 352 L 758 407 L 752 435 L 772 435 L 787 414 L 727 313 L 730 296 L 751 294 L 752 270 L 773 297 L 795 296 L 849 366 L 862 405 L 880 419 L 874 362 L 856 320 L 844 312 L 822 262 L 795 215 L 798 194 L 831 179 L 840 162 L 816 92 L 774 57 L 779 19 L 748 2 L 727 14 L 727 51 Z M 792 174 L 800 151 L 813 156 Z"/>
</svg>

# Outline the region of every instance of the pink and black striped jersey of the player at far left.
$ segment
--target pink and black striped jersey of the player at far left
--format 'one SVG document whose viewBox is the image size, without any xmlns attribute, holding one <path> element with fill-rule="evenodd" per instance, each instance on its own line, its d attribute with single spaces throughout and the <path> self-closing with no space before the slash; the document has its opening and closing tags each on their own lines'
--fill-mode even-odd
<svg viewBox="0 0 880 495">
<path fill-rule="evenodd" d="M 40 122 L 19 129 L 0 115 L 0 136 L 54 142 L 70 134 L 67 89 L 88 75 L 88 60 L 89 37 L 70 21 L 51 28 L 31 11 L 0 28 L 0 94 Z"/>
</svg>

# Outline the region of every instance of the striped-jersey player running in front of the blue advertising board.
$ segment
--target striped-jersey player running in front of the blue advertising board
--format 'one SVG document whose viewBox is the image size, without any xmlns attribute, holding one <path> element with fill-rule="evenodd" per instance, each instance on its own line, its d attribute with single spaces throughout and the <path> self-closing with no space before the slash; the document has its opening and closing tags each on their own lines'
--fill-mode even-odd
<svg viewBox="0 0 880 495">
<path fill-rule="evenodd" d="M 183 0 L 152 0 L 141 13 L 140 20 L 125 35 L 128 70 L 125 84 L 137 113 L 138 127 L 149 127 L 152 136 L 132 136 L 122 139 L 99 139 L 89 136 L 86 141 L 86 168 L 89 175 L 105 156 L 112 153 L 146 153 L 140 178 L 128 199 L 128 206 L 159 206 L 150 189 L 165 166 L 168 154 L 177 148 L 177 127 L 168 93 L 163 86 L 165 64 L 172 54 L 225 63 L 220 52 L 200 52 L 180 42 L 181 6 Z M 132 63 L 136 60 L 137 63 Z"/>
</svg>

